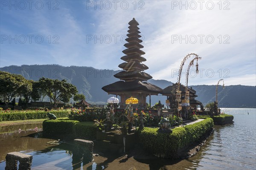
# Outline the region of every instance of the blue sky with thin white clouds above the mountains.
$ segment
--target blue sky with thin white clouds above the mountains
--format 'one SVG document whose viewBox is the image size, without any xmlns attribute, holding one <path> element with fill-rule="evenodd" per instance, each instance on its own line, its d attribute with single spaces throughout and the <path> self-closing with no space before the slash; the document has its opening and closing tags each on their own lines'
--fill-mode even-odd
<svg viewBox="0 0 256 170">
<path fill-rule="evenodd" d="M 134 17 L 154 79 L 177 81 L 196 53 L 189 85 L 256 85 L 256 1 L 0 1 L 0 67 L 58 64 L 119 69 Z M 184 76 L 181 79 L 185 83 Z"/>
</svg>

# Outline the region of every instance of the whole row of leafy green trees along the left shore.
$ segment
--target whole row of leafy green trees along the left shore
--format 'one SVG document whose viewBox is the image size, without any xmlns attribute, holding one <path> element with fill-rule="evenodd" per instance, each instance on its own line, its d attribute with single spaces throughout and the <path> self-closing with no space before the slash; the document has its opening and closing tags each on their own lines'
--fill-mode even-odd
<svg viewBox="0 0 256 170">
<path fill-rule="evenodd" d="M 8 107 L 10 101 L 14 101 L 15 97 L 20 97 L 19 105 L 24 101 L 25 108 L 30 100 L 37 101 L 49 96 L 50 102 L 57 108 L 59 102 L 67 103 L 70 98 L 84 99 L 83 94 L 77 94 L 76 86 L 68 83 L 66 80 L 40 78 L 38 81 L 27 80 L 21 75 L 10 74 L 0 71 L 0 100 L 5 103 L 4 109 Z"/>
</svg>

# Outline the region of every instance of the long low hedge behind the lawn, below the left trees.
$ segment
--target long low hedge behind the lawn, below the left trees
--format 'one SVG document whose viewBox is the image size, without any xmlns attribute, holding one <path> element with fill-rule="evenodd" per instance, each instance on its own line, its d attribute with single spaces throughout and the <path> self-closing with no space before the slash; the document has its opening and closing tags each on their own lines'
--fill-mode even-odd
<svg viewBox="0 0 256 170">
<path fill-rule="evenodd" d="M 54 114 L 57 118 L 68 117 L 69 111 L 48 111 Z M 38 112 L 22 112 L 22 113 L 1 113 L 0 121 L 15 121 L 15 120 L 29 120 L 29 119 L 47 119 L 45 111 Z"/>
</svg>

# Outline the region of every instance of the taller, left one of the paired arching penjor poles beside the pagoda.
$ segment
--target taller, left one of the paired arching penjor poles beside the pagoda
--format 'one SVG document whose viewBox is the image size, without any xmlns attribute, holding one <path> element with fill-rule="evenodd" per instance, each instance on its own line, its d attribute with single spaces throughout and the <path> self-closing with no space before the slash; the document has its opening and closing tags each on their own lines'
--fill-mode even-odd
<svg viewBox="0 0 256 170">
<path fill-rule="evenodd" d="M 190 56 L 194 56 L 195 58 L 198 58 L 198 54 L 195 54 L 195 53 L 191 53 L 191 54 L 187 54 L 186 57 L 184 57 L 184 59 L 182 60 L 181 64 L 180 64 L 180 69 L 179 69 L 179 77 L 177 78 L 178 80 L 178 84 L 176 86 L 176 99 L 175 101 L 177 102 L 177 105 L 178 105 L 178 108 L 177 108 L 177 111 L 178 111 L 178 116 L 179 115 L 179 111 L 180 111 L 180 107 L 179 107 L 179 102 L 180 102 L 180 98 L 181 98 L 181 91 L 180 91 L 180 76 L 181 76 L 181 72 L 182 72 L 182 68 L 183 68 L 183 65 L 184 63 L 186 62 L 186 60 L 190 57 Z"/>
</svg>

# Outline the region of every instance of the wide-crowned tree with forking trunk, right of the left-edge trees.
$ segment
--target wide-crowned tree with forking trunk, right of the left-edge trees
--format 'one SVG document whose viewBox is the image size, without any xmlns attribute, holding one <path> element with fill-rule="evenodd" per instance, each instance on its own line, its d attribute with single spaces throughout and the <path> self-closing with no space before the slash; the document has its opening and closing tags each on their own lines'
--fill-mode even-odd
<svg viewBox="0 0 256 170">
<path fill-rule="evenodd" d="M 70 98 L 77 93 L 76 86 L 66 80 L 49 79 L 42 77 L 38 80 L 40 91 L 50 98 L 50 102 L 57 108 L 58 102 L 69 102 Z"/>
</svg>

